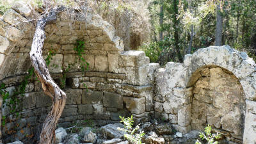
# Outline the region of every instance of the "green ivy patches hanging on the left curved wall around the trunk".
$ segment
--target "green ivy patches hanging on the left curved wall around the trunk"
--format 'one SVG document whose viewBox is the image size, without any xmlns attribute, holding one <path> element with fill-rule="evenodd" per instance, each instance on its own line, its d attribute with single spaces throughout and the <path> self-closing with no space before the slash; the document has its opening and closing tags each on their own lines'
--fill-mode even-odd
<svg viewBox="0 0 256 144">
<path fill-rule="evenodd" d="M 68 67 L 63 69 L 63 76 L 61 77 L 61 88 L 65 88 L 65 83 L 66 83 L 66 78 L 67 78 L 67 72 L 70 71 L 70 68 L 74 67 L 76 63 L 79 63 L 79 67 L 81 67 L 81 70 L 85 72 L 88 70 L 89 63 L 86 62 L 84 59 L 84 41 L 83 40 L 77 40 L 76 42 L 76 47 L 74 47 L 74 51 L 77 52 L 76 58 L 74 63 L 68 63 Z M 47 57 L 45 58 L 45 63 L 49 67 L 51 65 L 51 61 L 53 60 L 53 56 L 56 55 L 56 50 L 51 49 Z M 58 67 L 58 65 L 52 64 L 51 67 Z M 15 88 L 13 93 L 11 94 L 6 90 L 6 84 L 1 83 L 0 84 L 0 95 L 2 96 L 3 99 L 3 108 L 8 107 L 10 108 L 10 114 L 15 114 L 15 118 L 19 118 L 20 116 L 20 111 L 22 109 L 22 100 L 24 98 L 25 92 L 26 92 L 26 86 L 29 83 L 29 79 L 31 79 L 32 76 L 35 76 L 34 68 L 31 67 L 28 70 L 28 74 L 24 77 L 23 81 L 20 83 L 19 86 Z M 36 77 L 36 76 L 35 76 Z M 37 78 L 35 78 L 37 80 Z M 2 117 L 2 125 L 4 126 L 6 123 L 6 117 Z"/>
</svg>

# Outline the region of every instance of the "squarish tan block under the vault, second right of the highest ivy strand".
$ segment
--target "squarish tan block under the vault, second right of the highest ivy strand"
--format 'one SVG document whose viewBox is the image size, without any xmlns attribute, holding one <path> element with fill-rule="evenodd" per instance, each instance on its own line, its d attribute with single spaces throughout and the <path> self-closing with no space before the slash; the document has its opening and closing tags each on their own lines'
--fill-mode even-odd
<svg viewBox="0 0 256 144">
<path fill-rule="evenodd" d="M 107 56 L 95 56 L 95 70 L 99 72 L 108 72 Z"/>
</svg>

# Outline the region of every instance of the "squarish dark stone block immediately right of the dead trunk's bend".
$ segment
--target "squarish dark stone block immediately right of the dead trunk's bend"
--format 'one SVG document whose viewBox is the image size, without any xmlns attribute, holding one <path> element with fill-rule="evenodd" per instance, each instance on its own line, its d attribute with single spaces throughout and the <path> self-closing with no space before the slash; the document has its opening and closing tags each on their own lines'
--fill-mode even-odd
<svg viewBox="0 0 256 144">
<path fill-rule="evenodd" d="M 66 104 L 81 104 L 82 90 L 81 89 L 71 89 L 65 90 L 67 95 Z"/>
</svg>

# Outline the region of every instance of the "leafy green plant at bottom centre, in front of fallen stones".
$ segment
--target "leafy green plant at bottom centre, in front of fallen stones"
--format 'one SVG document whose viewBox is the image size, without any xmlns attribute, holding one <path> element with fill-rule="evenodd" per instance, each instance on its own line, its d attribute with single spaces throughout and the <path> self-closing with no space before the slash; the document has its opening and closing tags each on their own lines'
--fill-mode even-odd
<svg viewBox="0 0 256 144">
<path fill-rule="evenodd" d="M 132 119 L 132 115 L 131 118 L 124 118 L 124 116 L 119 116 L 119 118 L 121 119 L 120 122 L 124 123 L 124 128 L 118 127 L 118 131 L 126 132 L 124 134 L 124 138 L 126 138 L 130 143 L 141 144 L 141 139 L 143 138 L 145 133 L 144 131 L 138 131 L 140 129 L 139 125 L 136 125 L 136 127 L 132 129 L 132 125 L 134 122 Z"/>
</svg>

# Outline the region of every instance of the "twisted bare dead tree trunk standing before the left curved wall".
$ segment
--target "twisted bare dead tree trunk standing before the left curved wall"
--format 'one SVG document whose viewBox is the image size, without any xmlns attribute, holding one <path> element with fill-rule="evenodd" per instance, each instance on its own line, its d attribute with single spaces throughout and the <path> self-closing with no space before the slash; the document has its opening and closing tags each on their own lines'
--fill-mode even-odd
<svg viewBox="0 0 256 144">
<path fill-rule="evenodd" d="M 54 143 L 56 124 L 64 109 L 67 98 L 65 92 L 60 89 L 50 76 L 42 56 L 42 48 L 45 40 L 45 25 L 56 21 L 56 13 L 60 12 L 60 10 L 63 10 L 63 8 L 51 10 L 48 15 L 45 15 L 37 21 L 36 31 L 29 53 L 36 76 L 42 83 L 45 94 L 52 98 L 52 109 L 44 121 L 40 134 L 40 144 Z"/>
</svg>

